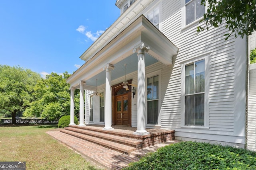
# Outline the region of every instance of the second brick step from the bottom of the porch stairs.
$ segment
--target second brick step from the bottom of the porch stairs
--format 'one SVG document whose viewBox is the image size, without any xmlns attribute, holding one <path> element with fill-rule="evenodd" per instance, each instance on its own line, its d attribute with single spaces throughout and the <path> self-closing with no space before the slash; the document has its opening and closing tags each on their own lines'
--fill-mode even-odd
<svg viewBox="0 0 256 170">
<path fill-rule="evenodd" d="M 111 141 L 111 142 L 115 142 L 115 143 L 120 143 L 123 145 L 127 145 L 130 147 L 134 147 L 137 149 L 141 149 L 142 147 L 142 140 L 138 140 L 138 139 L 132 139 L 132 138 L 128 138 L 128 137 L 116 137 L 116 135 L 110 135 L 110 134 L 106 134 L 106 133 L 101 133 L 98 131 L 90 131 L 90 130 L 86 130 L 86 129 L 79 129 L 76 127 L 66 127 L 66 130 L 69 131 L 74 131 L 77 133 L 81 133 L 84 135 L 89 135 L 92 137 L 98 137 L 100 139 L 104 139 L 107 141 Z"/>
</svg>

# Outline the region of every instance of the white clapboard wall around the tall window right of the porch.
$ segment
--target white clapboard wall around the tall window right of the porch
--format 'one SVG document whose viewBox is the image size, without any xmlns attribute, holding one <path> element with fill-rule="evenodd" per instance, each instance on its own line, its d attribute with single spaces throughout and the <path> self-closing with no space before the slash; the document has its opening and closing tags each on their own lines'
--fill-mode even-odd
<svg viewBox="0 0 256 170">
<path fill-rule="evenodd" d="M 198 138 L 205 140 L 215 139 L 216 141 L 234 143 L 243 146 L 245 144 L 245 134 L 243 129 L 235 129 L 235 120 L 237 117 L 243 117 L 240 121 L 245 122 L 245 104 L 241 104 L 240 111 L 236 111 L 235 104 L 237 94 L 235 91 L 245 92 L 245 86 L 236 86 L 236 78 L 246 76 L 244 70 L 236 68 L 239 64 L 235 57 L 238 53 L 235 47 L 246 40 L 235 39 L 231 36 L 225 41 L 224 34 L 228 33 L 224 25 L 217 29 L 210 27 L 209 31 L 196 34 L 198 25 L 204 26 L 204 23 L 193 23 L 182 28 L 182 3 L 177 0 L 162 0 L 162 33 L 166 35 L 178 48 L 172 74 L 169 78 L 168 87 L 162 103 L 162 128 L 175 129 L 176 137 Z M 202 56 L 209 56 L 209 117 L 208 127 L 205 129 L 193 129 L 181 127 L 181 64 L 191 59 Z M 240 56 L 239 56 L 240 57 Z M 242 56 L 246 61 L 246 54 Z M 246 68 L 245 63 L 241 63 L 242 68 Z M 240 75 L 236 75 L 242 72 Z M 164 73 L 163 73 L 164 74 Z M 242 80 L 245 80 L 242 79 Z M 244 82 L 241 82 L 245 84 Z M 163 90 L 164 91 L 164 90 Z M 246 101 L 245 96 L 241 96 Z M 241 112 L 241 110 L 243 110 Z M 238 116 L 239 115 L 239 116 Z M 241 125 L 242 127 L 243 125 Z M 245 127 L 243 127 L 245 128 Z M 196 135 L 197 134 L 197 135 Z M 205 135 L 211 134 L 211 135 Z"/>
</svg>

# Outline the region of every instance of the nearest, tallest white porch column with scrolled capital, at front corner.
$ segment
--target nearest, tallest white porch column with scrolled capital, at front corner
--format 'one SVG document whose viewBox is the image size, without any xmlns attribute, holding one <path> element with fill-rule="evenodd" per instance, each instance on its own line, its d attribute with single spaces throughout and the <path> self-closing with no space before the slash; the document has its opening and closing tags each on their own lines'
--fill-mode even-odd
<svg viewBox="0 0 256 170">
<path fill-rule="evenodd" d="M 133 49 L 134 53 L 138 53 L 138 96 L 137 96 L 137 130 L 135 135 L 148 135 L 146 131 L 146 75 L 145 75 L 145 51 L 149 51 L 150 47 L 146 47 L 141 43 Z"/>
</svg>

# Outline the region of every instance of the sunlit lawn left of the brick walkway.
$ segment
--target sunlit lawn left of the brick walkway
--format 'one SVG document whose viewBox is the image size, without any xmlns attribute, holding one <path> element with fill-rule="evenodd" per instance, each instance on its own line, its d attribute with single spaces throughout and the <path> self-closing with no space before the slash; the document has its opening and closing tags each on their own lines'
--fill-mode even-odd
<svg viewBox="0 0 256 170">
<path fill-rule="evenodd" d="M 26 170 L 99 170 L 45 133 L 57 125 L 0 127 L 0 162 L 26 161 Z"/>
</svg>

